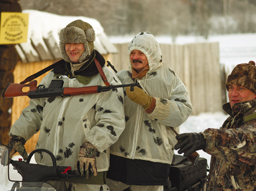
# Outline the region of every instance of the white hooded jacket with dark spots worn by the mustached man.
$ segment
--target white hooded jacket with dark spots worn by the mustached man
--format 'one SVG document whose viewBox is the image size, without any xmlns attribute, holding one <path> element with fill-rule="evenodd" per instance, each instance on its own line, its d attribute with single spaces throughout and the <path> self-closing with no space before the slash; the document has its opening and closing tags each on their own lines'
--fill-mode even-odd
<svg viewBox="0 0 256 191">
<path fill-rule="evenodd" d="M 126 128 L 110 147 L 110 153 L 129 159 L 171 164 L 177 140 L 170 127 L 179 133 L 179 126 L 192 113 L 188 90 L 175 72 L 162 63 L 161 49 L 153 35 L 146 32 L 137 34 L 129 43 L 128 55 L 135 49 L 143 52 L 149 63 L 147 75 L 136 80 L 145 92 L 156 99 L 156 107 L 147 114 L 142 106 L 124 94 Z M 132 64 L 129 65 L 130 72 L 131 67 Z M 117 72 L 116 76 L 122 84 L 133 83 L 126 70 Z"/>
</svg>

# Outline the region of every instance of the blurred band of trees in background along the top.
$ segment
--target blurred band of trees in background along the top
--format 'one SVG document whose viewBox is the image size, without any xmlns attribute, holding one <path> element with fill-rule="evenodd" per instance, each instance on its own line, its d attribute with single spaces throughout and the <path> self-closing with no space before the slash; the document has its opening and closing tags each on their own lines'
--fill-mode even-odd
<svg viewBox="0 0 256 191">
<path fill-rule="evenodd" d="M 92 17 L 108 35 L 256 32 L 255 0 L 20 0 L 22 9 Z M 215 18 L 214 20 L 211 18 Z M 212 26 L 214 24 L 214 26 Z"/>
</svg>

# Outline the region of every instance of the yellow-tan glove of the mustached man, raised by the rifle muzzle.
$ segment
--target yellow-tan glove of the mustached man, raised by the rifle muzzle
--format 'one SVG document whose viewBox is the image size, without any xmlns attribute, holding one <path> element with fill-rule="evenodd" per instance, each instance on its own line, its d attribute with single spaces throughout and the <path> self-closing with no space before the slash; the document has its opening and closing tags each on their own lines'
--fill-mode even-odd
<svg viewBox="0 0 256 191">
<path fill-rule="evenodd" d="M 126 95 L 130 100 L 134 101 L 136 104 L 141 105 L 145 110 L 150 107 L 150 104 L 153 100 L 149 94 L 137 86 L 134 87 L 133 91 L 130 91 L 130 87 L 126 87 Z"/>
</svg>

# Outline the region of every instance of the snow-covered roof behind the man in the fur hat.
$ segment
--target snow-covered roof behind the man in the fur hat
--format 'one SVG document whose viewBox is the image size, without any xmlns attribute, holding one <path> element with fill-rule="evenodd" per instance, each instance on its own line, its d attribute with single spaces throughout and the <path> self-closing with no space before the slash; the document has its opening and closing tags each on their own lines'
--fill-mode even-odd
<svg viewBox="0 0 256 191">
<path fill-rule="evenodd" d="M 23 10 L 29 13 L 29 28 L 27 42 L 16 45 L 17 53 L 22 62 L 38 62 L 44 60 L 59 60 L 59 32 L 74 20 L 81 19 L 94 28 L 94 48 L 101 54 L 117 53 L 115 46 L 109 41 L 100 22 L 83 16 L 60 16 L 37 10 Z"/>
</svg>

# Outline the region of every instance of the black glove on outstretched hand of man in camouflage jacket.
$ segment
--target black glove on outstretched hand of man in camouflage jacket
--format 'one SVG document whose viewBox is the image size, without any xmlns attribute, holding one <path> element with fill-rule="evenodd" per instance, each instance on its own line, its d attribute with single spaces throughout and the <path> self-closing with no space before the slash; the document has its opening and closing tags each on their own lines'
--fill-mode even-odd
<svg viewBox="0 0 256 191">
<path fill-rule="evenodd" d="M 205 138 L 202 133 L 184 133 L 176 136 L 178 143 L 174 146 L 175 150 L 184 157 L 190 156 L 193 152 L 203 149 L 205 150 Z"/>
</svg>

